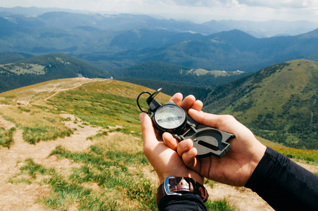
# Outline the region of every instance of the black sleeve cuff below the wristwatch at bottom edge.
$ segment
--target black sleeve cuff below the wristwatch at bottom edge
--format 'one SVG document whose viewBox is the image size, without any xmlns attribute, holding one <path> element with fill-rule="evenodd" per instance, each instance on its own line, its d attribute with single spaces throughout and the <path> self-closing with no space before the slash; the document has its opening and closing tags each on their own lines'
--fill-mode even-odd
<svg viewBox="0 0 318 211">
<path fill-rule="evenodd" d="M 158 203 L 160 211 L 165 210 L 198 210 L 208 211 L 200 196 L 184 194 L 182 196 L 164 196 Z"/>
</svg>

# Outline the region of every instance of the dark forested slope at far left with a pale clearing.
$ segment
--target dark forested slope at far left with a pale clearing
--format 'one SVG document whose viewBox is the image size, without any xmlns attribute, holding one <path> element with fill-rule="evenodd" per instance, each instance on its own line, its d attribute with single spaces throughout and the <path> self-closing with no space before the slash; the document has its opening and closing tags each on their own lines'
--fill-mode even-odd
<svg viewBox="0 0 318 211">
<path fill-rule="evenodd" d="M 1 64 L 0 92 L 70 77 L 109 77 L 109 74 L 72 56 L 50 53 Z"/>
</svg>

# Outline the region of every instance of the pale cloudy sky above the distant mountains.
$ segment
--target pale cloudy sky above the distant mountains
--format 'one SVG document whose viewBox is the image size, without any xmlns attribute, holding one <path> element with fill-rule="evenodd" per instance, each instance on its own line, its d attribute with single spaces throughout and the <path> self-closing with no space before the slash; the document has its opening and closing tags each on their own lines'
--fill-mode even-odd
<svg viewBox="0 0 318 211">
<path fill-rule="evenodd" d="M 15 6 L 146 14 L 196 23 L 230 19 L 318 23 L 318 0 L 0 0 L 0 7 Z"/>
</svg>

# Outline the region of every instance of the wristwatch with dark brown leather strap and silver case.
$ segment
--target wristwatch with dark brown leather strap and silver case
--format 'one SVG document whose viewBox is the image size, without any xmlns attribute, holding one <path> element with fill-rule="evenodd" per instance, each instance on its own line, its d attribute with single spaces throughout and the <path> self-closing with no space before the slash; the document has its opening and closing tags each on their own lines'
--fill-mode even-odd
<svg viewBox="0 0 318 211">
<path fill-rule="evenodd" d="M 209 197 L 205 187 L 190 177 L 166 177 L 165 182 L 158 187 L 155 203 L 158 206 L 164 196 L 182 196 L 189 193 L 197 194 L 203 202 L 206 202 Z"/>
</svg>

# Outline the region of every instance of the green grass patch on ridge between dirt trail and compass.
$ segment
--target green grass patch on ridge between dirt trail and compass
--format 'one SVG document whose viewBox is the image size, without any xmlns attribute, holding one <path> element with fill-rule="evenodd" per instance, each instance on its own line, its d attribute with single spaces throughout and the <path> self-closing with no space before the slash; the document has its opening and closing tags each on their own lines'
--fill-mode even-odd
<svg viewBox="0 0 318 211">
<path fill-rule="evenodd" d="M 47 103 L 58 112 L 71 113 L 89 124 L 106 129 L 121 126 L 136 132 L 140 130 L 136 97 L 146 90 L 135 87 L 114 80 L 88 83 L 53 96 Z M 159 100 L 166 102 L 169 98 L 163 94 Z M 146 108 L 146 103 L 141 103 Z"/>
</svg>

